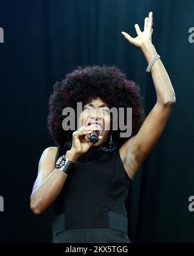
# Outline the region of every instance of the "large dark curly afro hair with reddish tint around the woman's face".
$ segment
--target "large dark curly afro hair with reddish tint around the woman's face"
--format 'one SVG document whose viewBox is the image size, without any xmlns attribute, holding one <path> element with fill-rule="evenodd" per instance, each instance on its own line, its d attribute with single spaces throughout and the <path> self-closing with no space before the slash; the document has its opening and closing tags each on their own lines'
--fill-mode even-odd
<svg viewBox="0 0 194 256">
<path fill-rule="evenodd" d="M 76 113 L 77 102 L 82 102 L 84 105 L 96 97 L 100 97 L 109 108 L 132 108 L 131 137 L 137 134 L 145 119 L 140 87 L 133 80 L 127 80 L 126 75 L 116 65 L 78 66 L 72 73 L 65 75 L 64 80 L 54 84 L 48 101 L 47 127 L 56 146 L 63 147 L 64 143 L 72 139 L 74 132 L 63 130 L 62 122 L 65 118 L 62 115 L 63 108 L 71 107 Z M 126 125 L 126 113 L 124 119 Z M 113 141 L 118 147 L 129 139 L 129 137 L 120 137 L 120 132 L 124 131 L 118 126 L 118 130 L 111 130 L 109 133 L 112 133 Z"/>
</svg>

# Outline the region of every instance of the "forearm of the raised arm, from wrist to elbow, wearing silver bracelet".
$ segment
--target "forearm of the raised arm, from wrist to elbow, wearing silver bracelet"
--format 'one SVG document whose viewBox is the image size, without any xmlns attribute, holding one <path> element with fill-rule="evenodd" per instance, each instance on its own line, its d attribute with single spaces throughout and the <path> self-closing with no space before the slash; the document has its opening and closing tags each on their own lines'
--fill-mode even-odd
<svg viewBox="0 0 194 256">
<path fill-rule="evenodd" d="M 151 59 L 157 54 L 155 46 L 151 42 L 144 44 L 142 47 L 142 52 L 146 57 L 147 64 L 149 64 Z M 157 102 L 162 104 L 175 103 L 175 91 L 160 58 L 158 58 L 153 64 L 150 72 L 153 78 L 153 83 L 155 85 Z"/>
</svg>

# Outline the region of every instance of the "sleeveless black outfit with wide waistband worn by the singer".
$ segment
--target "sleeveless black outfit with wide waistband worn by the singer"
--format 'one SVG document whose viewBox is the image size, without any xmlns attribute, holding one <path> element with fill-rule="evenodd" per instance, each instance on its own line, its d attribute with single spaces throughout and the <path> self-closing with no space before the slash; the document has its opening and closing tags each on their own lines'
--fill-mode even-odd
<svg viewBox="0 0 194 256">
<path fill-rule="evenodd" d="M 68 145 L 58 146 L 56 161 Z M 111 154 L 90 148 L 72 166 L 54 201 L 52 243 L 131 243 L 125 209 L 131 183 L 117 147 Z"/>
</svg>

